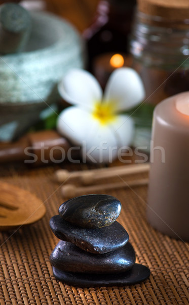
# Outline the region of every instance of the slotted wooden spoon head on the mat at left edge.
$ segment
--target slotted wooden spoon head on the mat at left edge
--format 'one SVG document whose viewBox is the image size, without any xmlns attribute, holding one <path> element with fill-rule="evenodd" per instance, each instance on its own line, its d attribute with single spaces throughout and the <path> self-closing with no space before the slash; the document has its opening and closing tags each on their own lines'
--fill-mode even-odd
<svg viewBox="0 0 189 305">
<path fill-rule="evenodd" d="M 0 181 L 0 231 L 32 224 L 45 212 L 43 202 L 35 195 Z"/>
</svg>

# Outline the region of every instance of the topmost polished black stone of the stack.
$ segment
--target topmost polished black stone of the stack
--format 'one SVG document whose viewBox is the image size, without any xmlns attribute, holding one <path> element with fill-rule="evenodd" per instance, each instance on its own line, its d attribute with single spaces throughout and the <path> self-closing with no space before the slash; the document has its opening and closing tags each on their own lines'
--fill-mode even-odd
<svg viewBox="0 0 189 305">
<path fill-rule="evenodd" d="M 114 223 L 121 212 L 121 202 L 109 195 L 85 195 L 65 201 L 59 215 L 83 228 L 101 228 Z"/>
</svg>

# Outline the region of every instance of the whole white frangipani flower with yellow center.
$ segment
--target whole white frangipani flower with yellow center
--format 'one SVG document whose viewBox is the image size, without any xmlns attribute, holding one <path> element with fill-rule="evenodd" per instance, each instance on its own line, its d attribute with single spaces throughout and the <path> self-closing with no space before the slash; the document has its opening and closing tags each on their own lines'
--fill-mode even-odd
<svg viewBox="0 0 189 305">
<path fill-rule="evenodd" d="M 144 99 L 139 75 L 130 68 L 115 70 L 104 95 L 95 77 L 73 69 L 60 81 L 58 90 L 70 106 L 57 121 L 57 129 L 74 145 L 83 147 L 83 157 L 92 162 L 111 162 L 133 136 L 133 120 L 123 111 Z"/>
</svg>

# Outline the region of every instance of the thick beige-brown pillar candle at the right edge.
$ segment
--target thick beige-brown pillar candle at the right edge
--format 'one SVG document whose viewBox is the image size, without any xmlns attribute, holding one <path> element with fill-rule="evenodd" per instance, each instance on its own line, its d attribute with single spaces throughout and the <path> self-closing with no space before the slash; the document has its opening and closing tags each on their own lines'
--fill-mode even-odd
<svg viewBox="0 0 189 305">
<path fill-rule="evenodd" d="M 150 159 L 147 219 L 189 240 L 189 92 L 156 106 Z"/>
</svg>

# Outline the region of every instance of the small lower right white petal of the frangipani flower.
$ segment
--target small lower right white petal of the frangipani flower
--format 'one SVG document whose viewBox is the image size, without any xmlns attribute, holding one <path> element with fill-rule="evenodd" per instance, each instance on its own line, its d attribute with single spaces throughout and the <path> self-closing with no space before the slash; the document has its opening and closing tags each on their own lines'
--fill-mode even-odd
<svg viewBox="0 0 189 305">
<path fill-rule="evenodd" d="M 134 135 L 134 122 L 128 115 L 117 115 L 115 122 L 111 123 L 112 133 L 115 134 L 118 146 L 129 146 Z"/>
</svg>

